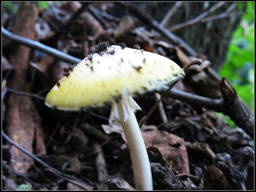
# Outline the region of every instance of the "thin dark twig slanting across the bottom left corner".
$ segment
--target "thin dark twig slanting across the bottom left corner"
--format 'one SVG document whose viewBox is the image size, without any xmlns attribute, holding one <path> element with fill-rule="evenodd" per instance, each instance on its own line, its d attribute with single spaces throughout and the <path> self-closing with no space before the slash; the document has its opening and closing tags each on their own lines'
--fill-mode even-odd
<svg viewBox="0 0 256 192">
<path fill-rule="evenodd" d="M 75 184 L 75 185 L 77 185 L 77 186 L 79 186 L 83 189 L 86 189 L 86 190 L 92 190 L 93 189 L 92 186 L 89 186 L 89 185 L 83 183 L 83 181 L 79 180 L 78 178 L 67 175 L 63 172 L 60 172 L 57 169 L 53 168 L 52 166 L 49 166 L 47 163 L 44 163 L 44 161 L 42 161 L 41 159 L 36 157 L 34 154 L 30 153 L 29 151 L 27 151 L 25 148 L 21 147 L 20 145 L 17 145 L 16 143 L 14 143 L 3 131 L 2 131 L 2 135 L 11 145 L 15 146 L 17 149 L 19 149 L 20 151 L 27 154 L 29 157 L 31 157 L 32 159 L 34 159 L 35 161 L 37 161 L 38 163 L 43 165 L 52 174 L 54 174 L 58 177 L 61 177 L 64 180 L 67 180 L 70 183 L 73 183 L 73 184 Z"/>
</svg>

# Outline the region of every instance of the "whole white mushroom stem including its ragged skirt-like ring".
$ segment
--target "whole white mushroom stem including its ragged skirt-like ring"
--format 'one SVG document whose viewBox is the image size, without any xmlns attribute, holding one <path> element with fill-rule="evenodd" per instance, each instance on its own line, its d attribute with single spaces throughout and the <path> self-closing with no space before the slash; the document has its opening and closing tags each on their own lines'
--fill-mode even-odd
<svg viewBox="0 0 256 192">
<path fill-rule="evenodd" d="M 116 120 L 122 124 L 127 140 L 137 190 L 153 190 L 153 180 L 147 149 L 137 122 L 135 111 L 140 106 L 131 96 L 112 104 L 110 122 Z"/>
</svg>

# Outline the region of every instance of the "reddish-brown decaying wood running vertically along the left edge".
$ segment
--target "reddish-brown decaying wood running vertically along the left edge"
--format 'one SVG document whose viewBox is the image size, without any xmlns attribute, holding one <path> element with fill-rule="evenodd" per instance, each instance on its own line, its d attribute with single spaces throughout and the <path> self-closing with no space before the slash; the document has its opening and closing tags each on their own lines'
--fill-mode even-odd
<svg viewBox="0 0 256 192">
<path fill-rule="evenodd" d="M 34 26 L 37 15 L 35 3 L 21 3 L 13 32 L 27 38 L 35 38 Z M 24 92 L 30 91 L 29 82 L 27 81 L 30 56 L 30 48 L 23 45 L 15 47 L 10 56 L 14 74 L 8 81 L 8 87 Z M 41 130 L 41 117 L 30 97 L 10 94 L 6 121 L 7 134 L 15 143 L 32 152 L 32 146 L 35 142 L 35 153 L 46 154 L 44 136 Z M 30 157 L 13 146 L 10 148 L 10 154 L 11 167 L 17 172 L 25 173 L 33 164 Z"/>
</svg>

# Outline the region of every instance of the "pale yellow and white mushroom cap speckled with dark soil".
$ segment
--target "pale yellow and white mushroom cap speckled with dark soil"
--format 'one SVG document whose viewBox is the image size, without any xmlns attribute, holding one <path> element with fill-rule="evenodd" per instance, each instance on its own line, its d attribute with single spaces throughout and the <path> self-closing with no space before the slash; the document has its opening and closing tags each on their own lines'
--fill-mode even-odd
<svg viewBox="0 0 256 192">
<path fill-rule="evenodd" d="M 55 84 L 45 105 L 66 111 L 79 111 L 157 90 L 185 75 L 172 60 L 147 52 L 112 45 L 94 52 L 71 67 Z"/>
</svg>

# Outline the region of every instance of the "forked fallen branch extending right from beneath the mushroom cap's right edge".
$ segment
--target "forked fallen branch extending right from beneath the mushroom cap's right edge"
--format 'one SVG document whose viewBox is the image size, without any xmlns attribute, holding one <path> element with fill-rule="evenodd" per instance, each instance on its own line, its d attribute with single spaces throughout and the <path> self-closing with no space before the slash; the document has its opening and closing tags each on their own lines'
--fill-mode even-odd
<svg viewBox="0 0 256 192">
<path fill-rule="evenodd" d="M 164 92 L 168 86 L 162 86 L 160 92 Z M 192 106 L 207 108 L 221 112 L 230 117 L 237 126 L 242 128 L 250 137 L 254 136 L 254 114 L 237 96 L 236 90 L 226 78 L 220 81 L 221 99 L 211 99 L 184 91 L 172 89 L 168 95 L 174 99 L 187 102 Z"/>
</svg>

